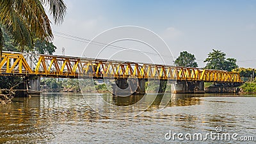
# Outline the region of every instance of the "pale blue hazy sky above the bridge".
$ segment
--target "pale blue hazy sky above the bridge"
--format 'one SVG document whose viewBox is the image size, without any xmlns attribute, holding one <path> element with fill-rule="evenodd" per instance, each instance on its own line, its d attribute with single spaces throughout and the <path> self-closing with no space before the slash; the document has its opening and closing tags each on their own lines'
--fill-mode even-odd
<svg viewBox="0 0 256 144">
<path fill-rule="evenodd" d="M 57 26 L 52 24 L 53 42 L 58 47 L 54 54 L 61 55 L 64 47 L 66 56 L 161 63 L 156 60 L 156 53 L 170 65 L 181 51 L 188 51 L 195 54 L 199 67 L 205 67 L 207 54 L 217 49 L 225 52 L 227 58 L 235 58 L 239 67 L 256 67 L 256 1 L 64 1 L 67 4 L 64 22 Z M 168 48 L 161 44 L 156 46 L 158 43 L 155 43 L 153 51 L 146 42 L 123 40 L 111 45 L 128 50 L 107 47 L 100 51 L 102 45 L 98 45 L 99 49 L 86 49 L 88 40 L 109 44 L 109 37 L 118 39 L 126 33 L 133 33 L 134 37 L 140 34 L 135 28 L 106 35 L 109 40 L 105 40 L 104 36 L 95 38 L 108 29 L 122 26 L 148 29 L 163 38 Z M 154 41 L 157 36 L 145 35 L 145 41 L 150 42 L 150 38 Z M 144 41 L 143 36 L 139 37 Z"/>
</svg>

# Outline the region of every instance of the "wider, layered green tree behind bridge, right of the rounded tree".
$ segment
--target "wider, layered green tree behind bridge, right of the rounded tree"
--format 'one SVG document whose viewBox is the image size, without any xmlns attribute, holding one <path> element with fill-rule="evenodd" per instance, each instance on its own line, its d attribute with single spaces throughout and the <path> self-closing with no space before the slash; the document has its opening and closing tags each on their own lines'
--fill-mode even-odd
<svg viewBox="0 0 256 144">
<path fill-rule="evenodd" d="M 224 52 L 214 50 L 209 52 L 208 58 L 205 59 L 206 62 L 205 68 L 216 69 L 216 70 L 227 70 L 231 72 L 232 69 L 237 68 L 236 59 L 227 58 Z"/>
</svg>

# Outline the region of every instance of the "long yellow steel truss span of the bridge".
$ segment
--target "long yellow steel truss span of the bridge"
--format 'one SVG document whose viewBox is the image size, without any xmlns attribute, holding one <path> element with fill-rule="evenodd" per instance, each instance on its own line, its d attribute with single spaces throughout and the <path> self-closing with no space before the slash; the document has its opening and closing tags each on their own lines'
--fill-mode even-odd
<svg viewBox="0 0 256 144">
<path fill-rule="evenodd" d="M 124 61 L 92 60 L 67 56 L 38 55 L 29 65 L 22 53 L 3 53 L 0 75 L 36 75 L 42 77 L 114 77 L 170 79 L 174 81 L 207 81 L 241 83 L 237 72 L 200 68 L 173 67 Z"/>
</svg>

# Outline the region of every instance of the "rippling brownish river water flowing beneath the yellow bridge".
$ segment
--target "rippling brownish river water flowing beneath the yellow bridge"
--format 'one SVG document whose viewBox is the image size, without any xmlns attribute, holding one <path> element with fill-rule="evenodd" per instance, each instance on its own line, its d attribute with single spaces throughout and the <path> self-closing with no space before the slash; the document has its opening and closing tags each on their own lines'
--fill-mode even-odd
<svg viewBox="0 0 256 144">
<path fill-rule="evenodd" d="M 93 95 L 98 94 L 90 97 Z M 175 94 L 170 95 L 172 100 L 164 109 L 159 109 L 163 95 L 158 95 L 143 113 L 119 119 L 104 116 L 102 109 L 118 113 L 122 107 L 127 109 L 122 114 L 131 113 L 131 108 L 132 112 L 137 108 L 132 104 L 143 96 L 127 99 L 101 94 L 119 107 L 102 107 L 98 109 L 102 113 L 97 113 L 79 93 L 42 93 L 40 97 L 15 98 L 12 104 L 0 106 L 0 143 L 255 143 L 255 96 Z M 208 132 L 238 136 L 230 141 L 189 140 L 189 134 L 202 133 L 204 137 Z M 173 133 L 187 134 L 188 140 L 184 135 L 180 138 L 185 140 L 170 138 Z M 253 137 L 254 141 L 241 141 L 242 136 Z"/>
</svg>

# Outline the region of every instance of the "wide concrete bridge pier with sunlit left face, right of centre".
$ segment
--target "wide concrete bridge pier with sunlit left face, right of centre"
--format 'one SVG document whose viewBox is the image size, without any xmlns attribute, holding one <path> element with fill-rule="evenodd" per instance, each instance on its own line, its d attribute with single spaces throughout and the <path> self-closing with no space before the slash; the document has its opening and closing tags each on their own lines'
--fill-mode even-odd
<svg viewBox="0 0 256 144">
<path fill-rule="evenodd" d="M 204 81 L 177 81 L 172 84 L 173 93 L 204 93 Z"/>
</svg>

